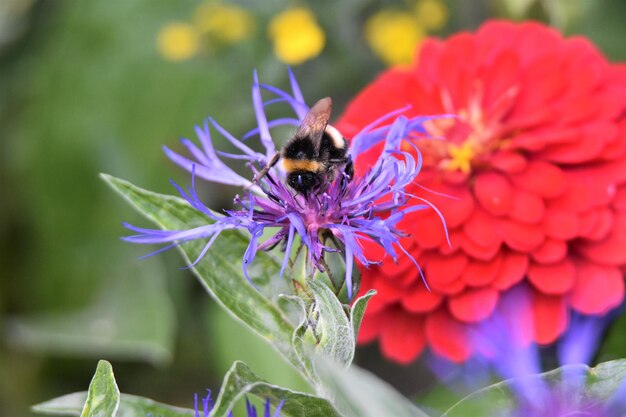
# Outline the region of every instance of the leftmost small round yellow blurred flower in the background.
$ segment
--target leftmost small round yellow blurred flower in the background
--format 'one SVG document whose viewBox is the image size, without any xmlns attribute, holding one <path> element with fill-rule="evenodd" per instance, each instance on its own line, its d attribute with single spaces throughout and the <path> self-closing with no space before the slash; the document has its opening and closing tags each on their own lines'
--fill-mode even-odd
<svg viewBox="0 0 626 417">
<path fill-rule="evenodd" d="M 187 23 L 174 22 L 161 28 L 157 49 L 168 61 L 184 61 L 198 53 L 200 44 L 197 30 Z"/>
</svg>

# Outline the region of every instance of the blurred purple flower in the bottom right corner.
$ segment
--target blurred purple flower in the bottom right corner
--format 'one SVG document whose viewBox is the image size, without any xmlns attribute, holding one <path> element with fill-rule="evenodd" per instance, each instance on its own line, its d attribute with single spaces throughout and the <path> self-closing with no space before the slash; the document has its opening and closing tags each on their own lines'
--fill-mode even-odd
<svg viewBox="0 0 626 417">
<path fill-rule="evenodd" d="M 516 400 L 514 409 L 495 413 L 498 417 L 624 417 L 626 416 L 626 379 L 608 399 L 606 393 L 585 391 L 589 364 L 600 339 L 617 311 L 607 315 L 578 315 L 570 318 L 567 332 L 556 345 L 558 364 L 563 366 L 558 380 L 539 376 L 542 351 L 533 342 L 532 317 L 527 303 L 532 302 L 524 285 L 513 288 L 494 314 L 472 334 L 481 354 L 463 367 L 434 359 L 432 369 L 449 385 L 475 390 L 490 380 L 490 371 L 508 380 Z M 545 352 L 544 352 L 545 353 Z M 497 411 L 497 410 L 494 410 Z"/>
</svg>

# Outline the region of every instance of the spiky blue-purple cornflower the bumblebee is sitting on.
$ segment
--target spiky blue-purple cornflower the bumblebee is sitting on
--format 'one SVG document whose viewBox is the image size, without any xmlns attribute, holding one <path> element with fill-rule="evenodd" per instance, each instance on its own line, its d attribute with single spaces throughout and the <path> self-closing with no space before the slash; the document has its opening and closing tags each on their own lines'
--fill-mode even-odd
<svg viewBox="0 0 626 417">
<path fill-rule="evenodd" d="M 306 245 L 310 264 L 322 270 L 324 253 L 336 251 L 325 246 L 320 240 L 320 231 L 325 229 L 343 244 L 345 280 L 349 298 L 352 298 L 353 257 L 365 266 L 375 263 L 363 252 L 362 243 L 366 240 L 378 243 L 394 261 L 397 261 L 402 253 L 410 257 L 417 266 L 417 262 L 399 242 L 404 234 L 398 230 L 398 222 L 409 212 L 427 208 L 439 214 L 444 229 L 445 222 L 429 202 L 405 192 L 405 188 L 415 181 L 420 172 L 422 158 L 417 148 L 414 148 L 413 152 L 400 149 L 403 139 L 424 134 L 422 124 L 432 117 L 409 119 L 401 116 L 407 107 L 373 121 L 352 139 L 349 153 L 353 160 L 356 160 L 372 146 L 384 142 L 384 150 L 376 164 L 365 175 L 352 180 L 346 175 L 338 175 L 327 188 L 317 194 L 305 196 L 289 188 L 281 164 L 277 164 L 254 184 L 251 179 L 277 152 L 270 130 L 277 126 L 298 126 L 308 111 L 291 71 L 289 78 L 291 94 L 276 87 L 259 84 L 257 75 L 254 74 L 252 102 L 257 127 L 244 135 L 242 140 L 235 138 L 209 118 L 203 127 L 196 127 L 200 146 L 188 139 L 182 140 L 191 158 L 164 148 L 173 162 L 192 173 L 192 185 L 189 189 L 183 190 L 174 184 L 178 192 L 192 207 L 204 213 L 210 223 L 190 230 L 167 231 L 143 229 L 126 224 L 128 229 L 137 234 L 126 237 L 125 240 L 144 244 L 169 243 L 157 251 L 160 252 L 190 240 L 209 239 L 192 263 L 193 266 L 207 253 L 221 232 L 229 229 L 247 229 L 250 233 L 250 243 L 243 258 L 243 272 L 250 280 L 248 265 L 254 260 L 257 251 L 272 248 L 278 243 L 284 243 L 286 248 L 281 267 L 282 275 L 296 236 L 299 236 Z M 271 94 L 272 98 L 264 102 L 262 90 Z M 265 108 L 276 103 L 288 104 L 295 117 L 268 120 Z M 211 141 L 210 127 L 240 153 L 217 151 Z M 252 137 L 259 138 L 265 152 L 257 152 L 246 145 L 245 141 Z M 237 174 L 220 157 L 247 162 L 252 170 L 249 178 Z M 215 213 L 200 201 L 195 189 L 196 177 L 215 183 L 241 186 L 245 194 L 235 197 L 234 209 L 226 210 L 223 214 Z M 278 231 L 264 242 L 260 242 L 259 239 L 267 228 L 278 228 Z"/>
</svg>

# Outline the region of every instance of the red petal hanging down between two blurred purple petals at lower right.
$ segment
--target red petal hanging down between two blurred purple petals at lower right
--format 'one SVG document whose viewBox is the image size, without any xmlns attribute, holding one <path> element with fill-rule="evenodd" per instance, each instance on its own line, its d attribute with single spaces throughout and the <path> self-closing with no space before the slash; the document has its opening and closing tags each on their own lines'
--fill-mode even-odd
<svg viewBox="0 0 626 417">
<path fill-rule="evenodd" d="M 554 342 L 567 328 L 567 306 L 562 297 L 551 297 L 535 292 L 532 297 L 535 322 L 535 341 Z"/>
</svg>

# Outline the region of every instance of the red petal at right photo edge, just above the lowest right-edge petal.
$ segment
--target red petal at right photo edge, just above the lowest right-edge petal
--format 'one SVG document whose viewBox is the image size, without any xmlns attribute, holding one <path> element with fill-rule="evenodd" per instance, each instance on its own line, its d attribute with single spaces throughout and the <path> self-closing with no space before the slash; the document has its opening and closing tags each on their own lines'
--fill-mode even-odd
<svg viewBox="0 0 626 417">
<path fill-rule="evenodd" d="M 599 242 L 582 242 L 576 250 L 585 257 L 608 265 L 626 263 L 626 213 L 615 216 L 611 233 Z"/>
</svg>

